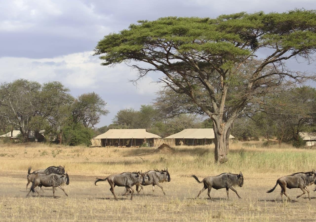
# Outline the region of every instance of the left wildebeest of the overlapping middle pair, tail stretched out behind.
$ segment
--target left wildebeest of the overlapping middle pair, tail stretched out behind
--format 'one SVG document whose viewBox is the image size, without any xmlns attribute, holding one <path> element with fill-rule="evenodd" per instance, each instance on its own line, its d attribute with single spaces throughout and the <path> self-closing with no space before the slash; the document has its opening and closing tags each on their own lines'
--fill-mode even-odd
<svg viewBox="0 0 316 222">
<path fill-rule="evenodd" d="M 115 200 L 117 200 L 116 195 L 114 193 L 115 186 L 125 187 L 126 189 L 128 189 L 129 192 L 131 193 L 131 200 L 133 200 L 134 189 L 132 188 L 132 186 L 138 183 L 142 183 L 144 180 L 144 177 L 146 176 L 147 176 L 146 174 L 143 174 L 141 172 L 137 172 L 137 173 L 124 172 L 120 174 L 112 174 L 104 179 L 97 178 L 97 180 L 94 182 L 94 185 L 97 186 L 96 184 L 97 182 L 107 180 L 107 182 L 109 182 L 111 186 L 110 191 L 112 192 Z"/>
</svg>

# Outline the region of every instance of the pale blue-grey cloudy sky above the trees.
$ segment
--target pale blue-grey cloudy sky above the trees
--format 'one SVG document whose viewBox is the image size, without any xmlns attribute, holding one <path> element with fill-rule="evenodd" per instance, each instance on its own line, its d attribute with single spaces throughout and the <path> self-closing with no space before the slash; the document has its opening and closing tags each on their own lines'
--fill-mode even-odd
<svg viewBox="0 0 316 222">
<path fill-rule="evenodd" d="M 125 64 L 101 66 L 92 56 L 97 42 L 138 20 L 165 16 L 215 18 L 240 11 L 285 12 L 316 9 L 315 0 L 0 0 L 1 83 L 24 78 L 40 83 L 61 81 L 75 97 L 96 92 L 110 111 L 101 127 L 120 109 L 138 109 L 156 98 L 159 74 L 133 85 L 137 72 Z M 300 66 L 314 70 L 315 64 Z M 300 68 L 298 67 L 298 68 Z"/>
</svg>

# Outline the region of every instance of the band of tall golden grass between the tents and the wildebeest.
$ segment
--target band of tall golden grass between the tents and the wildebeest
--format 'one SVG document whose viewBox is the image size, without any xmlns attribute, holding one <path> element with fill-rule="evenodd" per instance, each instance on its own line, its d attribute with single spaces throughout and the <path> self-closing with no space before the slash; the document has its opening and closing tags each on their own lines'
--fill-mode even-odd
<svg viewBox="0 0 316 222">
<path fill-rule="evenodd" d="M 65 165 L 72 173 L 103 175 L 167 167 L 173 175 L 189 177 L 224 171 L 279 174 L 316 168 L 315 149 L 297 149 L 287 144 L 264 147 L 261 141 L 232 143 L 228 159 L 225 164 L 216 164 L 212 145 L 178 146 L 173 147 L 173 152 L 156 152 L 156 147 L 91 148 L 41 143 L 1 144 L 0 147 L 0 171 Z"/>
</svg>

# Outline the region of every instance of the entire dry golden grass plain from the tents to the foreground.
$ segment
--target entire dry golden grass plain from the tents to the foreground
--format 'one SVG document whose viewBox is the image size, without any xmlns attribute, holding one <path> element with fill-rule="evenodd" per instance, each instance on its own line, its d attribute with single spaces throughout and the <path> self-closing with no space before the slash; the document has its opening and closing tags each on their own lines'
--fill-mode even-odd
<svg viewBox="0 0 316 222">
<path fill-rule="evenodd" d="M 234 142 L 230 145 L 229 161 L 214 164 L 213 146 L 182 146 L 173 150 L 156 148 L 89 148 L 51 144 L 0 143 L 0 212 L 1 221 L 314 221 L 315 185 L 307 195 L 296 199 L 300 189 L 288 189 L 292 201 L 282 201 L 281 188 L 274 192 L 277 178 L 294 172 L 316 168 L 316 150 L 262 146 L 261 141 Z M 64 185 L 69 196 L 57 188 L 31 193 L 27 184 L 27 168 L 43 169 L 65 165 L 70 184 Z M 107 181 L 94 185 L 96 177 L 125 171 L 148 171 L 168 168 L 171 181 L 159 187 L 145 186 L 140 194 L 122 196 L 123 187 L 115 187 L 118 201 L 110 192 Z M 212 189 L 195 199 L 203 185 L 192 174 L 204 177 L 222 172 L 244 175 L 244 186 L 236 187 L 242 199 L 225 189 Z M 30 185 L 29 185 L 30 188 Z M 135 187 L 134 187 L 135 188 Z"/>
</svg>

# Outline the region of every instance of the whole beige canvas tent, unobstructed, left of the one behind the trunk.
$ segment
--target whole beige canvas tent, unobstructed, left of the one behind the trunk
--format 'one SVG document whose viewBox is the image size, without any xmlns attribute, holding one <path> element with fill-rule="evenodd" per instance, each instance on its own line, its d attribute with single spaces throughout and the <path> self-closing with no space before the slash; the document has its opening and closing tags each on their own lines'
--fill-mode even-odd
<svg viewBox="0 0 316 222">
<path fill-rule="evenodd" d="M 143 143 L 153 147 L 159 144 L 160 139 L 160 136 L 149 133 L 146 129 L 109 129 L 93 140 L 99 140 L 101 147 L 135 147 Z"/>
</svg>

